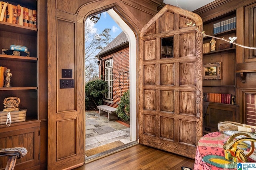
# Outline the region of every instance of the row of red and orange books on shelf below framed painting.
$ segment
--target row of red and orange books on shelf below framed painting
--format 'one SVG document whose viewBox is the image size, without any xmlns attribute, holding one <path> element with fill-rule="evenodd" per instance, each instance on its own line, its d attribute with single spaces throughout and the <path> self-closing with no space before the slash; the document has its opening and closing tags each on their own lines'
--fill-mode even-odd
<svg viewBox="0 0 256 170">
<path fill-rule="evenodd" d="M 224 93 L 203 93 L 203 101 L 213 103 L 231 104 L 232 94 Z"/>
</svg>

